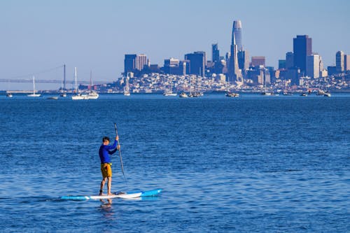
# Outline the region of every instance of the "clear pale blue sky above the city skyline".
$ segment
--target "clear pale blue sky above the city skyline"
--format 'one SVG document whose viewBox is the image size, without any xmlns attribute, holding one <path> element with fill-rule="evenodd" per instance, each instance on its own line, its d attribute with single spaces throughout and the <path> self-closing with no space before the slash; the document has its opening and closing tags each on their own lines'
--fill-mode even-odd
<svg viewBox="0 0 350 233">
<path fill-rule="evenodd" d="M 265 56 L 267 66 L 276 67 L 302 34 L 328 66 L 338 50 L 350 54 L 349 12 L 348 0 L 1 0 L 0 78 L 66 64 L 69 80 L 74 66 L 79 80 L 89 80 L 90 70 L 94 80 L 116 80 L 126 53 L 144 53 L 161 66 L 198 50 L 211 59 L 212 43 L 221 55 L 230 50 L 233 20 L 242 22 L 249 55 Z M 37 75 L 61 77 L 62 71 Z M 0 83 L 0 90 L 13 86 Z"/>
</svg>

